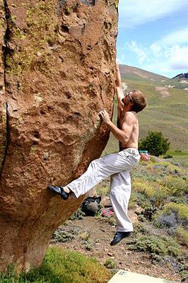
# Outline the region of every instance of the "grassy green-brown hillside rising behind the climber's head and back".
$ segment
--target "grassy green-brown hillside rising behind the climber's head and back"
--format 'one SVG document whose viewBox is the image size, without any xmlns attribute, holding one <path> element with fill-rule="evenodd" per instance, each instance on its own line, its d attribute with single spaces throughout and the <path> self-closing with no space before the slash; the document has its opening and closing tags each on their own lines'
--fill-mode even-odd
<svg viewBox="0 0 188 283">
<path fill-rule="evenodd" d="M 188 91 L 178 86 L 172 87 L 170 82 L 172 81 L 174 85 L 175 79 L 164 78 L 127 65 L 120 65 L 119 69 L 126 91 L 139 89 L 148 99 L 147 108 L 139 113 L 140 138 L 145 137 L 148 131 L 162 132 L 170 140 L 170 150 L 187 151 Z M 135 76 L 137 79 L 134 79 Z M 115 100 L 114 123 L 117 117 L 116 103 Z M 118 150 L 118 143 L 110 137 L 105 153 L 112 152 L 113 149 Z"/>
</svg>

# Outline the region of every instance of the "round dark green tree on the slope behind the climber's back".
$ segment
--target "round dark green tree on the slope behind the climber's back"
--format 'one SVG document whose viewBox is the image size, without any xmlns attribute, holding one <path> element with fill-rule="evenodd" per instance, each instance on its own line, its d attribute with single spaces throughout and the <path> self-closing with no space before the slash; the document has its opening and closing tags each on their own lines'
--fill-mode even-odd
<svg viewBox="0 0 188 283">
<path fill-rule="evenodd" d="M 148 135 L 139 141 L 139 149 L 147 150 L 149 154 L 160 156 L 170 149 L 170 142 L 161 132 L 148 132 Z"/>
</svg>

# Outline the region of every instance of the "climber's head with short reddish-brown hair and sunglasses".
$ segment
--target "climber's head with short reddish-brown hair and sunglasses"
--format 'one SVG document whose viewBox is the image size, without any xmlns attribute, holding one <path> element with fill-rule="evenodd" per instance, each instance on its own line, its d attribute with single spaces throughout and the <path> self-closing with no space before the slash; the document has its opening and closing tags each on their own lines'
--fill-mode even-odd
<svg viewBox="0 0 188 283">
<path fill-rule="evenodd" d="M 134 112 L 140 112 L 143 110 L 143 108 L 146 107 L 147 100 L 146 96 L 141 93 L 141 91 L 131 91 L 127 93 L 127 96 L 129 98 L 129 105 L 131 105 L 131 111 Z"/>
</svg>

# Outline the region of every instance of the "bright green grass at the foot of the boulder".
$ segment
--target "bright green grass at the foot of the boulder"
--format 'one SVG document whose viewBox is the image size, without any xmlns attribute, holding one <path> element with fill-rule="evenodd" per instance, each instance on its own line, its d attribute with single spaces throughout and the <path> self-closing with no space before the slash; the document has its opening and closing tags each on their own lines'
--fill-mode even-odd
<svg viewBox="0 0 188 283">
<path fill-rule="evenodd" d="M 95 258 L 49 248 L 39 268 L 18 276 L 11 267 L 6 275 L 0 275 L 0 283 L 106 283 L 111 277 L 110 271 Z"/>
</svg>

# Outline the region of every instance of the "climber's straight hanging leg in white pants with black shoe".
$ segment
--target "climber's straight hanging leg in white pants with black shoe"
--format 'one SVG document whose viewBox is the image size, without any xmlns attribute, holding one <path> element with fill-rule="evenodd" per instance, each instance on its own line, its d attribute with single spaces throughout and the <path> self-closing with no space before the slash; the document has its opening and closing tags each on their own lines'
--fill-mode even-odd
<svg viewBox="0 0 188 283">
<path fill-rule="evenodd" d="M 111 176 L 110 200 L 117 217 L 117 233 L 111 246 L 116 245 L 122 238 L 129 236 L 133 231 L 133 225 L 128 212 L 128 204 L 131 196 L 131 177 L 129 171 L 122 171 Z"/>
</svg>

